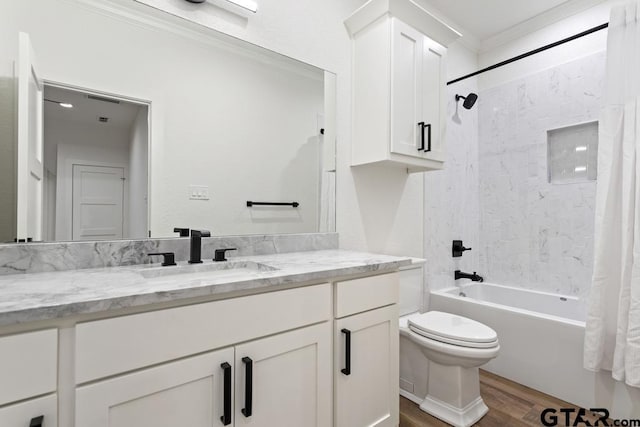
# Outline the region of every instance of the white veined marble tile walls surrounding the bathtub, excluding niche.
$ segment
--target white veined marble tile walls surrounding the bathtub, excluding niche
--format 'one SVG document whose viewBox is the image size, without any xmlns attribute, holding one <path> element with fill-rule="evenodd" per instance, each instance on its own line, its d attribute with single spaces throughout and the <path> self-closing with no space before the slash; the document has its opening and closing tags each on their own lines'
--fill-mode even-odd
<svg viewBox="0 0 640 427">
<path fill-rule="evenodd" d="M 479 93 L 455 115 L 449 87 L 445 170 L 425 174 L 427 286 L 453 286 L 453 270 L 487 281 L 585 296 L 593 266 L 595 183 L 552 185 L 548 129 L 597 120 L 600 52 Z M 473 247 L 453 259 L 452 239 Z"/>
</svg>

